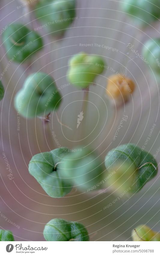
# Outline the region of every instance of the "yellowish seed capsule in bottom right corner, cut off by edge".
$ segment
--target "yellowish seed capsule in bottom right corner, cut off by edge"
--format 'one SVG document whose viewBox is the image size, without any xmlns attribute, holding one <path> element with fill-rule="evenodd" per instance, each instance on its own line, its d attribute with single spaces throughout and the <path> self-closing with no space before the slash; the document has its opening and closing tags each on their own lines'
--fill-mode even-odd
<svg viewBox="0 0 160 256">
<path fill-rule="evenodd" d="M 140 225 L 132 230 L 132 240 L 136 242 L 160 241 L 160 233 L 153 231 L 146 225 Z"/>
</svg>

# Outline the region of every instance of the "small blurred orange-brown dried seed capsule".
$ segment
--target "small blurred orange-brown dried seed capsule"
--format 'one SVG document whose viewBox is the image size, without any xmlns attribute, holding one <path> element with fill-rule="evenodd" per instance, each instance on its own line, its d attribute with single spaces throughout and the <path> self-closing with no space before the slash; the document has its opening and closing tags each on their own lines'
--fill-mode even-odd
<svg viewBox="0 0 160 256">
<path fill-rule="evenodd" d="M 135 84 L 122 74 L 115 74 L 108 77 L 106 93 L 114 101 L 123 103 L 129 100 L 134 92 Z"/>
</svg>

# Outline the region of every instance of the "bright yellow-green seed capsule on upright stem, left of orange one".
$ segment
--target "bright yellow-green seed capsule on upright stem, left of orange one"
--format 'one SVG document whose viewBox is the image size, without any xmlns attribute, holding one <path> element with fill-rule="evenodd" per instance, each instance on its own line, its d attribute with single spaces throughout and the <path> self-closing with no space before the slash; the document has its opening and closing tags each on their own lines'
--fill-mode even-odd
<svg viewBox="0 0 160 256">
<path fill-rule="evenodd" d="M 68 81 L 81 88 L 86 88 L 92 84 L 95 77 L 104 71 L 106 64 L 103 58 L 96 55 L 88 55 L 80 52 L 69 60 L 67 72 Z"/>
</svg>

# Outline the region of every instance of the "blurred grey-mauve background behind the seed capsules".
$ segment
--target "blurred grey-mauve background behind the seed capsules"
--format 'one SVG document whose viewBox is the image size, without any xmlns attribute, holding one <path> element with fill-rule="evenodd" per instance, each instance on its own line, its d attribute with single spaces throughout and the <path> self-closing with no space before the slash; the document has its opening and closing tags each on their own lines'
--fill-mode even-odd
<svg viewBox="0 0 160 256">
<path fill-rule="evenodd" d="M 0 30 L 16 21 L 32 29 L 39 27 L 29 5 L 18 9 L 21 4 L 18 0 L 1 0 Z M 122 198 L 103 210 L 117 197 L 112 191 L 82 193 L 73 190 L 64 198 L 55 199 L 49 197 L 28 172 L 28 164 L 34 154 L 56 148 L 52 132 L 62 147 L 89 144 L 102 161 L 106 153 L 119 144 L 134 143 L 140 148 L 145 145 L 145 150 L 152 154 L 160 147 L 159 82 L 144 61 L 127 47 L 128 43 L 132 43 L 134 49 L 141 53 L 146 40 L 159 37 L 160 22 L 141 29 L 129 19 L 120 5 L 119 0 L 77 0 L 77 19 L 63 38 L 54 38 L 45 28 L 38 30 L 44 41 L 44 49 L 29 64 L 11 63 L 2 77 L 5 97 L 0 102 L 0 227 L 11 230 L 16 241 L 44 241 L 44 225 L 53 218 L 83 223 L 91 241 L 131 241 L 131 230 L 139 224 L 160 231 L 159 173 L 138 194 Z M 82 46 L 92 43 L 93 47 Z M 2 73 L 8 64 L 2 38 L 0 47 Z M 108 66 L 96 79 L 96 85 L 90 86 L 83 137 L 77 131 L 77 115 L 81 110 L 83 92 L 67 85 L 66 76 L 68 59 L 81 51 L 102 56 Z M 73 131 L 61 126 L 55 113 L 51 113 L 50 117 L 50 137 L 44 137 L 44 128 L 38 118 L 26 120 L 20 117 L 20 131 L 17 131 L 14 95 L 23 86 L 27 75 L 37 71 L 51 74 L 57 87 L 62 88 L 63 103 L 58 110 L 59 119 Z M 119 108 L 111 104 L 105 91 L 107 77 L 114 71 L 127 74 L 136 84 L 131 100 Z M 127 122 L 113 141 L 123 115 L 128 116 Z M 151 139 L 145 144 L 154 124 Z M 2 153 L 5 153 L 12 170 L 12 180 L 7 176 Z M 160 153 L 156 160 L 159 164 Z"/>
</svg>

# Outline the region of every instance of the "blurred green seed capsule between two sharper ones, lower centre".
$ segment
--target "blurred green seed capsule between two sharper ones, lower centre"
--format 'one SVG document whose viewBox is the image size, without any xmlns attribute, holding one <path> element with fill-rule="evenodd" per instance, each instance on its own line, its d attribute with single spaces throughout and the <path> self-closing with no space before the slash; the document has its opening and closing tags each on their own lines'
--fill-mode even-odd
<svg viewBox="0 0 160 256">
<path fill-rule="evenodd" d="M 66 182 L 78 186 L 80 190 L 86 190 L 102 181 L 103 168 L 101 161 L 92 150 L 71 152 L 62 162 L 61 176 Z"/>
</svg>

